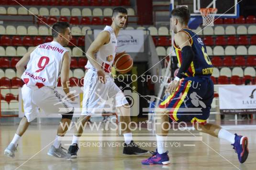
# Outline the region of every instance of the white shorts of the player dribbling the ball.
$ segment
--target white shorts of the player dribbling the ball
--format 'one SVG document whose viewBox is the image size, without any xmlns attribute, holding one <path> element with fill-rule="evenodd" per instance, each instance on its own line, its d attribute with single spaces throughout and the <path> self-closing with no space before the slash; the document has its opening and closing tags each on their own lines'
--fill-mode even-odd
<svg viewBox="0 0 256 170">
<path fill-rule="evenodd" d="M 108 75 L 106 83 L 100 83 L 97 72 L 88 70 L 84 77 L 82 115 L 113 112 L 115 107 L 129 104 L 122 91 Z"/>
</svg>

